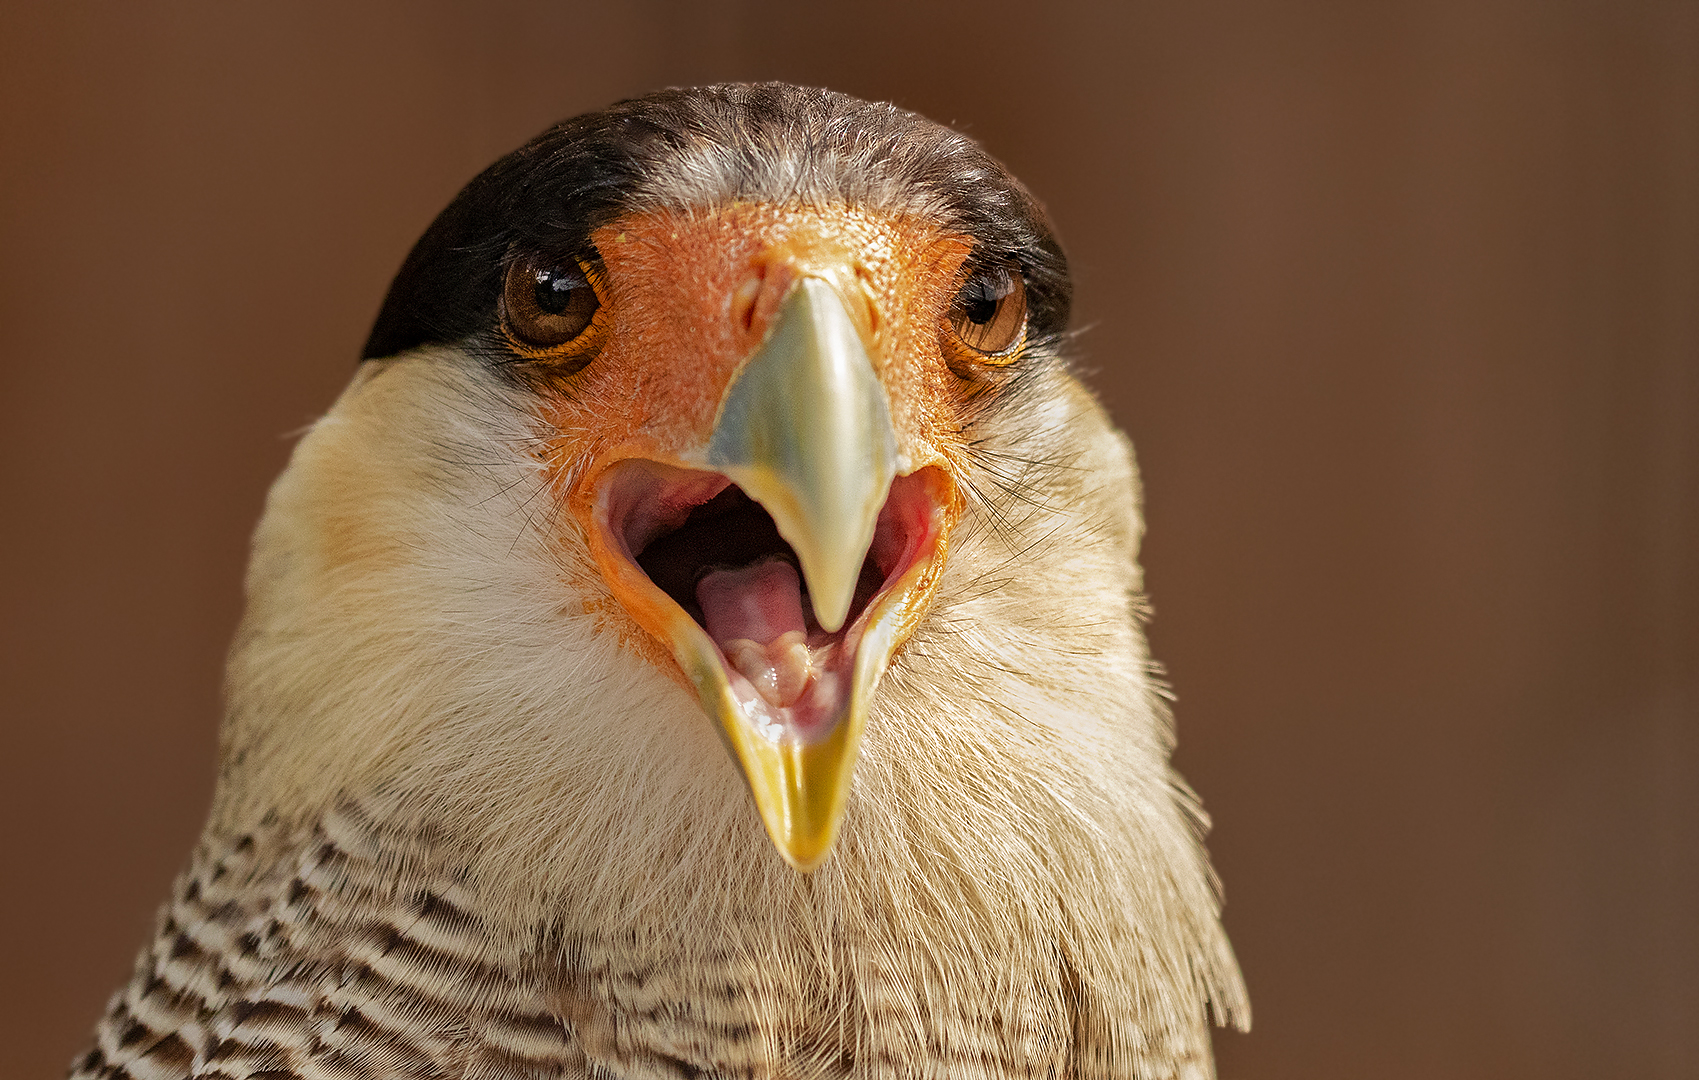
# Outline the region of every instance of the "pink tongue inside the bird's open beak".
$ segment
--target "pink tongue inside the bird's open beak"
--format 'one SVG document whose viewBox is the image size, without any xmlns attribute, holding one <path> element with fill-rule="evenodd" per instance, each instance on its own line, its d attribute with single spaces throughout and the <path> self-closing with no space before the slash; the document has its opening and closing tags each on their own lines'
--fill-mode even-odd
<svg viewBox="0 0 1699 1080">
<path fill-rule="evenodd" d="M 785 559 L 714 571 L 697 582 L 708 637 L 770 705 L 795 705 L 812 667 L 802 582 Z"/>
</svg>

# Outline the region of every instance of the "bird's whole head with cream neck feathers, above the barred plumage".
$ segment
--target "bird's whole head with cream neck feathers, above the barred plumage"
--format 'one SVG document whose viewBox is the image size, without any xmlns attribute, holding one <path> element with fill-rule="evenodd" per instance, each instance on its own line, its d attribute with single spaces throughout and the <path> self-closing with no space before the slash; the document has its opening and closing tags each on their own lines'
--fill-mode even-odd
<svg viewBox="0 0 1699 1080">
<path fill-rule="evenodd" d="M 545 131 L 272 487 L 209 837 L 430 868 L 518 954 L 744 958 L 775 1022 L 1242 1014 L 1069 299 L 1026 188 L 892 105 Z"/>
</svg>

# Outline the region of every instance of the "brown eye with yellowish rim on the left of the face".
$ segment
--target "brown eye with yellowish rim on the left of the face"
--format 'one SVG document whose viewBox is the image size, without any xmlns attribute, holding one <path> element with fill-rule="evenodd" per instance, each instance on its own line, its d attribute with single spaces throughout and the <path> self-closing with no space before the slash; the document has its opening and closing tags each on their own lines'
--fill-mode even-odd
<svg viewBox="0 0 1699 1080">
<path fill-rule="evenodd" d="M 525 360 L 588 362 L 607 324 L 600 273 L 584 260 L 513 260 L 501 285 L 501 324 Z"/>
</svg>

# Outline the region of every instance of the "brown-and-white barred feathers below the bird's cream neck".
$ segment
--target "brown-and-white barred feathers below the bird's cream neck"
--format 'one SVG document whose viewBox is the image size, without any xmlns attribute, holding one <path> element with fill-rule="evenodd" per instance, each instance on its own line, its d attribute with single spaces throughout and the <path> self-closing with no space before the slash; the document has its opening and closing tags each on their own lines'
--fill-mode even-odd
<svg viewBox="0 0 1699 1080">
<path fill-rule="evenodd" d="M 909 993 L 880 993 L 878 958 L 850 948 L 814 971 L 629 937 L 539 932 L 513 949 L 457 875 L 396 866 L 418 841 L 358 807 L 204 841 L 71 1080 L 1208 1075 L 1206 1044 L 1179 1038 L 1121 1068 L 1091 1060 L 1060 958 L 1036 1002 L 916 1017 Z"/>
</svg>

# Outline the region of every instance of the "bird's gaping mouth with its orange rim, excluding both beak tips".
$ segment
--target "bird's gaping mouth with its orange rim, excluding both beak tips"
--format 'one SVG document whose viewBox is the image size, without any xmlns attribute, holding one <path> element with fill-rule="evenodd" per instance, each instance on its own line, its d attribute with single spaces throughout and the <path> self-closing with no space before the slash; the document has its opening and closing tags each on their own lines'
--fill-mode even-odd
<svg viewBox="0 0 1699 1080">
<path fill-rule="evenodd" d="M 673 649 L 698 691 L 712 662 L 751 728 L 812 744 L 919 618 L 943 562 L 948 506 L 950 482 L 936 467 L 892 481 L 836 632 L 821 627 L 773 516 L 717 472 L 613 464 L 596 482 L 593 543 L 618 599 Z M 870 633 L 878 655 L 863 655 Z"/>
</svg>

